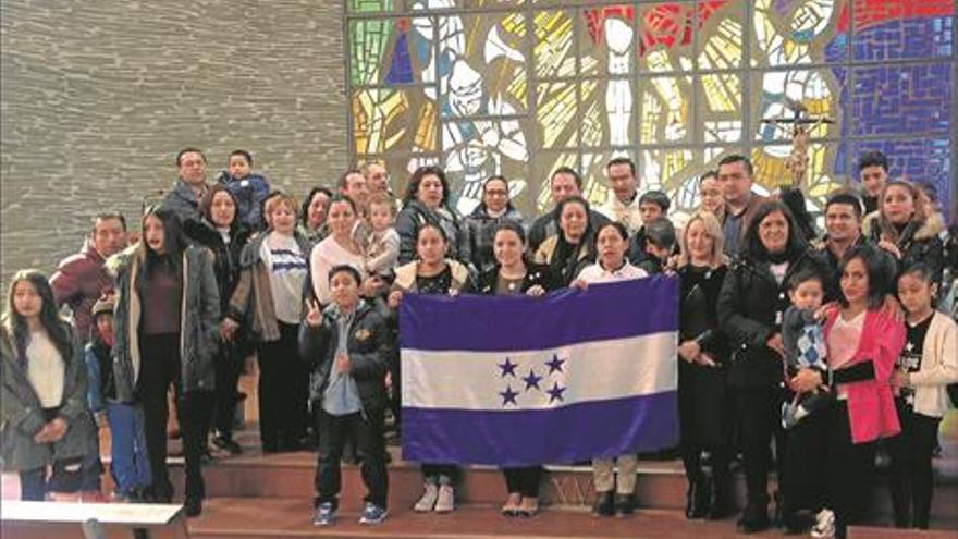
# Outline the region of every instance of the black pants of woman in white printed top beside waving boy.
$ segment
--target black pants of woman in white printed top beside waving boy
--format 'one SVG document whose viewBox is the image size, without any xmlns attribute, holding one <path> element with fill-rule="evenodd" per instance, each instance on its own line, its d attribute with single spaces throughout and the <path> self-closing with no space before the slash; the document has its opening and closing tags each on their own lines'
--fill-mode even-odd
<svg viewBox="0 0 958 539">
<path fill-rule="evenodd" d="M 259 436 L 266 451 L 298 446 L 306 437 L 309 372 L 299 358 L 296 326 L 278 322 L 280 340 L 260 343 Z"/>
</svg>

